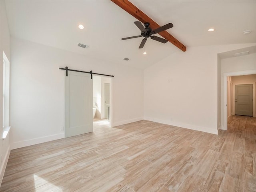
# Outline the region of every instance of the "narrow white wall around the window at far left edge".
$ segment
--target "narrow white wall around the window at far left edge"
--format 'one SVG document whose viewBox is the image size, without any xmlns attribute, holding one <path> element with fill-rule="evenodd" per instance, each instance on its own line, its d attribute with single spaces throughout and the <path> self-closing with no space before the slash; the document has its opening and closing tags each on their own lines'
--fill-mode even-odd
<svg viewBox="0 0 256 192">
<path fill-rule="evenodd" d="M 4 176 L 4 171 L 10 154 L 10 133 L 6 139 L 2 139 L 3 133 L 3 51 L 6 54 L 8 60 L 10 60 L 10 32 L 8 26 L 8 20 L 6 16 L 5 1 L 0 1 L 0 184 Z M 11 65 L 11 64 L 10 64 Z M 12 130 L 11 130 L 12 131 Z"/>
</svg>

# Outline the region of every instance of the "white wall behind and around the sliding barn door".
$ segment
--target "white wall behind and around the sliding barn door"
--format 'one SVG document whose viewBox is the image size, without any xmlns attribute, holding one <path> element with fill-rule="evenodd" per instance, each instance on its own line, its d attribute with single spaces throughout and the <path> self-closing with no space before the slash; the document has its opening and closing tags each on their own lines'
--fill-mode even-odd
<svg viewBox="0 0 256 192">
<path fill-rule="evenodd" d="M 143 119 L 143 71 L 26 40 L 11 40 L 12 148 L 64 136 L 64 79 L 59 67 L 114 75 L 112 126 Z M 124 110 L 125 109 L 125 110 Z"/>
</svg>

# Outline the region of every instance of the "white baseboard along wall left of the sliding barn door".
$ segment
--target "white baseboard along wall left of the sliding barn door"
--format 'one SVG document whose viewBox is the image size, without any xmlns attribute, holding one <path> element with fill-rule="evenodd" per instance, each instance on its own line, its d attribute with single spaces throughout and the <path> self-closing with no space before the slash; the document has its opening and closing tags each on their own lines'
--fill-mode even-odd
<svg viewBox="0 0 256 192">
<path fill-rule="evenodd" d="M 50 135 L 50 136 L 45 136 L 45 137 L 34 138 L 34 139 L 30 139 L 30 140 L 18 141 L 18 142 L 14 142 L 11 144 L 11 149 L 17 149 L 17 148 L 21 148 L 21 147 L 26 147 L 26 146 L 30 146 L 30 145 L 35 145 L 35 144 L 39 144 L 39 143 L 62 139 L 64 137 L 65 137 L 65 134 L 60 133 L 60 134 L 55 134 L 55 135 Z"/>
</svg>

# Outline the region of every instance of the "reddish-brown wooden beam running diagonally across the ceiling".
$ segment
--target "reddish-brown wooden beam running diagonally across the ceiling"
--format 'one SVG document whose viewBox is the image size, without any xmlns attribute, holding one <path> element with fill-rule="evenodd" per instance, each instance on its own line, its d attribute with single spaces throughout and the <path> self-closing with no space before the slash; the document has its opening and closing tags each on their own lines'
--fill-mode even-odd
<svg viewBox="0 0 256 192">
<path fill-rule="evenodd" d="M 150 17 L 148 17 L 146 14 L 144 14 L 144 12 L 139 10 L 130 1 L 128 1 L 128 0 L 111 0 L 111 1 L 114 2 L 116 5 L 118 5 L 120 8 L 122 8 L 123 10 L 125 10 L 126 12 L 128 12 L 129 14 L 131 14 L 132 16 L 134 16 L 140 22 L 150 23 L 150 27 L 153 30 L 160 27 L 160 25 L 158 25 L 156 22 L 154 22 L 154 20 L 152 20 Z M 186 51 L 186 46 L 184 46 L 181 42 L 179 42 L 174 36 L 172 36 L 167 31 L 162 31 L 162 32 L 159 32 L 158 34 L 160 34 L 163 38 L 167 39 L 169 42 L 174 44 L 180 50 Z"/>
</svg>

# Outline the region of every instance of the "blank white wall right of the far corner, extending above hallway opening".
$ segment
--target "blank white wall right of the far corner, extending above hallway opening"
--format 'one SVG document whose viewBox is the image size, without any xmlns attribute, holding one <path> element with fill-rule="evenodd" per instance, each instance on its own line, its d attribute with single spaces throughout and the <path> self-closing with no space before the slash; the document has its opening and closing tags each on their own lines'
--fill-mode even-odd
<svg viewBox="0 0 256 192">
<path fill-rule="evenodd" d="M 217 134 L 218 53 L 251 44 L 189 47 L 144 70 L 144 119 Z"/>
</svg>

